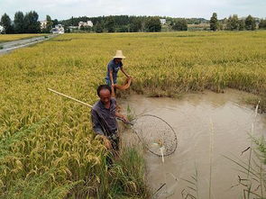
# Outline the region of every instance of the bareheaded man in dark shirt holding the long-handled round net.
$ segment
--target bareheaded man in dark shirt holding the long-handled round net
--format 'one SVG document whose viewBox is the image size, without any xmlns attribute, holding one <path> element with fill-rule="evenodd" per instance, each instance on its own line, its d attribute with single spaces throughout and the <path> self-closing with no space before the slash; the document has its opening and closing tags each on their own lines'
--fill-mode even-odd
<svg viewBox="0 0 266 199">
<path fill-rule="evenodd" d="M 128 122 L 127 118 L 116 111 L 115 98 L 111 97 L 112 89 L 107 85 L 100 85 L 97 88 L 97 95 L 100 100 L 94 104 L 91 110 L 93 130 L 99 134 L 107 149 L 119 149 L 118 125 L 116 117 Z"/>
</svg>

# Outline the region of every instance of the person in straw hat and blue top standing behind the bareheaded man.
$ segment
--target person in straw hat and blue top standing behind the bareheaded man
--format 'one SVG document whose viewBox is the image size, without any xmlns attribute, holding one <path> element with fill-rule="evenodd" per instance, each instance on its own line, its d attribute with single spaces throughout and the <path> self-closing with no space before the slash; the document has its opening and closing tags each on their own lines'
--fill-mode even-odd
<svg viewBox="0 0 266 199">
<path fill-rule="evenodd" d="M 130 76 L 124 71 L 122 59 L 125 59 L 122 50 L 116 50 L 116 54 L 113 57 L 108 65 L 107 65 L 107 73 L 105 77 L 106 85 L 111 86 L 111 88 L 115 88 L 115 84 L 117 84 L 117 73 L 119 69 L 124 73 L 127 78 Z"/>
</svg>

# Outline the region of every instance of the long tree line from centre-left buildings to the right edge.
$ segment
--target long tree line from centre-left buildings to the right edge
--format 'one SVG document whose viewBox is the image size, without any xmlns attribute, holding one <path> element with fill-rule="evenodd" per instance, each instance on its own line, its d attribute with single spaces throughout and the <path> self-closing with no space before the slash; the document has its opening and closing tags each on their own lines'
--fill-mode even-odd
<svg viewBox="0 0 266 199">
<path fill-rule="evenodd" d="M 167 24 L 161 25 L 160 18 L 166 19 Z M 265 20 L 248 15 L 246 18 L 239 19 L 236 14 L 229 16 L 223 20 L 217 19 L 214 13 L 208 21 L 204 18 L 173 18 L 173 17 L 151 17 L 151 16 L 99 16 L 99 17 L 72 17 L 69 20 L 61 21 L 65 27 L 78 26 L 78 22 L 92 21 L 95 26 L 93 28 L 82 27 L 81 30 L 92 32 L 161 32 L 165 30 L 188 31 L 188 24 L 202 24 L 203 26 L 191 26 L 190 29 L 201 30 L 225 30 L 225 31 L 253 31 L 257 28 L 265 28 Z"/>
</svg>

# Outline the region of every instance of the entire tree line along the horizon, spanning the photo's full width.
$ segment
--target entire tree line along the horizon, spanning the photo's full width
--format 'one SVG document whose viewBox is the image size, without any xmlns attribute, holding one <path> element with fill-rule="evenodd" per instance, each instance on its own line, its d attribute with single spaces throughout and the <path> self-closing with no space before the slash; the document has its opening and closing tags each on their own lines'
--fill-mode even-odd
<svg viewBox="0 0 266 199">
<path fill-rule="evenodd" d="M 204 18 L 173 18 L 159 16 L 98 16 L 98 17 L 71 17 L 69 20 L 51 20 L 46 16 L 46 27 L 41 29 L 41 23 L 38 21 L 39 15 L 35 11 L 23 14 L 16 12 L 14 22 L 7 14 L 3 14 L 0 24 L 4 26 L 6 33 L 39 33 L 50 32 L 52 26 L 61 23 L 66 32 L 70 32 L 69 26 L 78 26 L 79 22 L 92 21 L 93 27 L 80 27 L 85 32 L 161 32 L 161 29 L 174 31 L 188 31 L 188 24 L 205 24 L 205 30 L 208 30 L 208 23 L 211 31 L 252 31 L 256 29 L 256 23 L 259 23 L 260 29 L 266 29 L 266 20 L 253 18 L 251 15 L 245 19 L 239 19 L 236 14 L 229 16 L 228 19 L 218 20 L 214 13 L 210 21 Z M 161 25 L 160 18 L 166 19 L 167 24 Z"/>
</svg>

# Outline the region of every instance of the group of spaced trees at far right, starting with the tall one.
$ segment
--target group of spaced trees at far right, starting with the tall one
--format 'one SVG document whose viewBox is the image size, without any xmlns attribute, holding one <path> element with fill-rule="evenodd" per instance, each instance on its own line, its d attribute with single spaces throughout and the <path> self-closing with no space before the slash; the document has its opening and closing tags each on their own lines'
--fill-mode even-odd
<svg viewBox="0 0 266 199">
<path fill-rule="evenodd" d="M 266 28 L 266 20 L 261 19 L 259 29 Z M 229 16 L 228 19 L 218 20 L 217 14 L 214 13 L 210 19 L 210 30 L 227 30 L 227 31 L 254 31 L 256 30 L 256 20 L 252 15 L 248 15 L 245 19 L 239 19 L 237 14 Z"/>
</svg>

